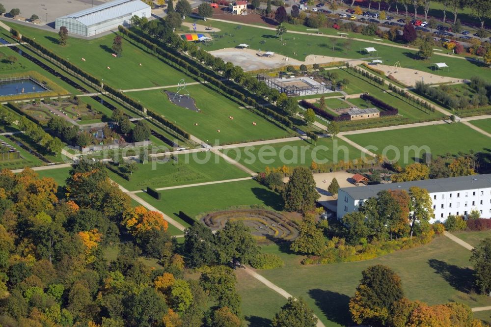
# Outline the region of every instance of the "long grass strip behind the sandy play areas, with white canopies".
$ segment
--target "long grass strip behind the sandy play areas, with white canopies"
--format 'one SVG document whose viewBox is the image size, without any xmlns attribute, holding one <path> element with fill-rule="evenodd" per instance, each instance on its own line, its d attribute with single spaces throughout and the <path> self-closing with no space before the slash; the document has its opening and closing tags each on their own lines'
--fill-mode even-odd
<svg viewBox="0 0 491 327">
<path fill-rule="evenodd" d="M 417 69 L 425 72 L 432 72 L 431 63 L 445 61 L 450 67 L 448 72 L 439 72 L 443 76 L 455 78 L 469 78 L 471 76 L 481 76 L 488 81 L 491 80 L 489 69 L 484 65 L 467 61 L 461 57 L 443 57 L 434 54 L 430 60 L 413 59 L 416 51 L 405 48 L 396 48 L 388 45 L 373 44 L 367 41 L 351 41 L 351 50 L 345 52 L 346 46 L 342 44 L 347 40 L 338 40 L 322 35 L 305 35 L 287 32 L 282 36 L 282 40 L 276 37 L 274 30 L 259 29 L 258 27 L 239 26 L 235 23 L 212 23 L 213 27 L 221 29 L 218 33 L 212 33 L 213 42 L 205 46 L 207 51 L 218 50 L 222 48 L 234 48 L 240 43 L 247 43 L 250 49 L 261 51 L 272 51 L 277 54 L 283 54 L 299 60 L 305 60 L 308 54 L 322 54 L 326 56 L 341 58 L 364 58 L 367 55 L 360 52 L 360 49 L 374 46 L 378 50 L 378 56 L 383 58 L 384 64 L 394 65 L 397 61 L 401 67 Z M 305 30 L 306 27 L 303 29 Z M 351 37 L 357 38 L 360 34 L 351 33 Z M 373 37 L 372 37 L 373 39 Z M 339 43 L 332 50 L 332 43 Z M 281 44 L 286 43 L 287 46 Z M 296 53 L 296 54 L 294 54 Z"/>
</svg>

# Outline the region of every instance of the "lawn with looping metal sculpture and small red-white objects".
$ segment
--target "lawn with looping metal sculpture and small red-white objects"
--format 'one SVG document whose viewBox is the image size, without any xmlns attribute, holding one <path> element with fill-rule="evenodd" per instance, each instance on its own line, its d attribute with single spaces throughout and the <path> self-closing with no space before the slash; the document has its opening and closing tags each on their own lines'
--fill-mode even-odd
<svg viewBox="0 0 491 327">
<path fill-rule="evenodd" d="M 163 114 L 188 133 L 210 144 L 216 144 L 215 140 L 223 144 L 287 136 L 286 131 L 273 123 L 248 109 L 239 109 L 240 105 L 204 85 L 190 85 L 188 91 L 200 112 L 173 105 L 161 90 L 132 92 L 131 96 L 140 100 L 146 108 Z M 254 126 L 253 122 L 257 125 Z"/>
</svg>

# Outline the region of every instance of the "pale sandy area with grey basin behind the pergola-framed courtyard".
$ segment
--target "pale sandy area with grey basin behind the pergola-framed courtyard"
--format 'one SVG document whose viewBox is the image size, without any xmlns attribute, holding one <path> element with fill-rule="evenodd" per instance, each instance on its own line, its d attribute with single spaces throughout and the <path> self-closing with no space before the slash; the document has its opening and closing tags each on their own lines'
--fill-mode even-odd
<svg viewBox="0 0 491 327">
<path fill-rule="evenodd" d="M 328 57 L 324 55 L 307 55 L 305 61 L 300 61 L 297 59 L 292 59 L 290 57 L 274 54 L 273 57 L 263 57 L 258 54 L 263 54 L 264 52 L 252 50 L 252 49 L 236 49 L 236 48 L 226 48 L 211 51 L 216 57 L 222 58 L 225 62 L 230 61 L 234 65 L 239 65 L 244 68 L 245 71 L 252 71 L 258 69 L 272 69 L 288 65 L 311 65 L 314 63 L 327 63 L 333 61 L 345 61 L 348 59 L 338 58 L 338 57 Z"/>
</svg>

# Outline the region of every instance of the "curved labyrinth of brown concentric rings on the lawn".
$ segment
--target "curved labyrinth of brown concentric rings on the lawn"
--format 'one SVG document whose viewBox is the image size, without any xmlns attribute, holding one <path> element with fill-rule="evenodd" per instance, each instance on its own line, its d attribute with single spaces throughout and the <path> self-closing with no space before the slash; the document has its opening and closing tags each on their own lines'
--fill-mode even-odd
<svg viewBox="0 0 491 327">
<path fill-rule="evenodd" d="M 292 241 L 299 235 L 295 223 L 283 215 L 270 210 L 240 209 L 217 211 L 201 218 L 201 221 L 212 230 L 223 228 L 228 220 L 243 221 L 254 236 Z"/>
</svg>

